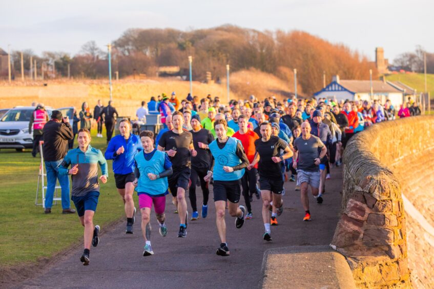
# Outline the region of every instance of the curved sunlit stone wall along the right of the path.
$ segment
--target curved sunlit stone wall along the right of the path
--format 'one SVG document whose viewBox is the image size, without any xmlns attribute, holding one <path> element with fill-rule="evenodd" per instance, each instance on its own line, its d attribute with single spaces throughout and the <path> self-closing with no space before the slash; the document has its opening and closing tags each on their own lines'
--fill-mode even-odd
<svg viewBox="0 0 434 289">
<path fill-rule="evenodd" d="M 330 245 L 347 258 L 358 287 L 434 284 L 433 165 L 433 116 L 379 123 L 348 143 Z"/>
</svg>

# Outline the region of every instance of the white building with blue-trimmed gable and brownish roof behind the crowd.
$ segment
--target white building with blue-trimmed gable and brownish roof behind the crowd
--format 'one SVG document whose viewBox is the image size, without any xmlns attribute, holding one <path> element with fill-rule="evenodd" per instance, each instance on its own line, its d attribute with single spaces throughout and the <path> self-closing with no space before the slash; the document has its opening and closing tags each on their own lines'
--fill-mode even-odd
<svg viewBox="0 0 434 289">
<path fill-rule="evenodd" d="M 403 90 L 388 81 L 372 81 L 373 97 L 371 98 L 370 80 L 340 80 L 339 75 L 333 77 L 325 88 L 314 94 L 315 98 L 335 98 L 336 100 L 374 100 L 382 104 L 390 99 L 395 107 L 403 104 Z"/>
</svg>

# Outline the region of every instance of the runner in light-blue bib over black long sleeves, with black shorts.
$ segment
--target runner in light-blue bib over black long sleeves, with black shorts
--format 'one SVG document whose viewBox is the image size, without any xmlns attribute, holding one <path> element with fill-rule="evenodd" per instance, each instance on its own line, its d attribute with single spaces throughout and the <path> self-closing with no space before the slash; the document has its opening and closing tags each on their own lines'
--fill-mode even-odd
<svg viewBox="0 0 434 289">
<path fill-rule="evenodd" d="M 244 224 L 245 208 L 238 205 L 241 195 L 241 178 L 244 168 L 249 165 L 249 159 L 244 153 L 242 144 L 233 137 L 226 136 L 228 124 L 225 120 L 219 119 L 214 122 L 214 129 L 218 139 L 210 144 L 213 155 L 214 170 L 208 171 L 205 181 L 214 178 L 214 204 L 216 206 L 216 224 L 220 237 L 220 247 L 216 254 L 229 256 L 231 253 L 226 242 L 226 222 L 224 214 L 226 211 L 226 200 L 229 200 L 229 214 L 235 219 L 235 226 L 240 229 Z"/>
</svg>

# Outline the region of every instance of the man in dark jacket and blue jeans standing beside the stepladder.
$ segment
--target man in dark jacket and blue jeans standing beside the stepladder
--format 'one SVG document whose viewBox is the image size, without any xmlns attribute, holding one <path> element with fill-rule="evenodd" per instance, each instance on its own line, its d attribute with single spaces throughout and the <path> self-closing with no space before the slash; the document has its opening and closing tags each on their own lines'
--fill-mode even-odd
<svg viewBox="0 0 434 289">
<path fill-rule="evenodd" d="M 44 126 L 43 133 L 43 153 L 47 172 L 44 212 L 46 214 L 51 213 L 56 179 L 58 179 L 62 191 L 63 214 L 75 213 L 75 210 L 71 209 L 68 175 L 59 175 L 58 171 L 60 163 L 68 152 L 68 141 L 74 137 L 68 117 L 63 117 L 60 111 L 54 110 L 51 114 L 51 119 Z"/>
</svg>

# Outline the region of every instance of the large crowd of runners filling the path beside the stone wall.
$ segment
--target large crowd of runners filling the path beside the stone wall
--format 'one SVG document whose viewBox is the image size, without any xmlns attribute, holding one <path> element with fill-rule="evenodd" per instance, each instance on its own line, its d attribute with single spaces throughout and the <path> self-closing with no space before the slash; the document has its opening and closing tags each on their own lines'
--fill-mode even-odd
<svg viewBox="0 0 434 289">
<path fill-rule="evenodd" d="M 100 105 L 100 104 L 98 104 Z M 86 109 L 88 106 L 84 106 Z M 417 105 L 410 104 L 417 112 Z M 297 99 L 277 101 L 232 100 L 221 104 L 211 95 L 198 99 L 191 95 L 179 101 L 175 93 L 152 97 L 142 102 L 137 118 L 149 113 L 161 115 L 164 124 L 158 135 L 151 131 L 132 133 L 130 120 L 120 121 L 120 134 L 108 138 L 103 154 L 90 145 L 90 126 L 78 130 L 78 147 L 69 150 L 58 168 L 59 175 L 71 175 L 72 200 L 85 227 L 85 250 L 80 261 L 89 264 L 90 246 L 99 243 L 100 227 L 93 224 L 99 196 L 99 181 L 107 182 L 107 160 L 113 161 L 116 188 L 125 205 L 126 234 L 134 233 L 138 195 L 143 256 L 153 255 L 151 246 L 151 209 L 159 224 L 159 234 L 167 236 L 166 195 L 172 195 L 174 212 L 179 217 L 177 236 L 187 237 L 189 221 L 208 216 L 209 185 L 212 184 L 219 256 L 230 255 L 226 239 L 226 209 L 240 229 L 254 215 L 253 198 L 262 200 L 263 239 L 272 241 L 271 226 L 283 213 L 284 182 L 296 181 L 300 191 L 303 221 L 310 221 L 308 189 L 318 204 L 323 203 L 330 167 L 340 166 L 342 153 L 354 134 L 377 122 L 405 117 L 378 101 L 336 101 L 335 99 Z M 410 109 L 407 109 L 410 111 Z M 102 108 L 110 114 L 115 109 Z M 53 115 L 60 126 L 61 113 Z M 397 116 L 398 114 L 398 116 Z M 417 113 L 408 113 L 408 115 Z M 419 110 L 420 114 L 420 110 Z M 52 116 L 53 117 L 53 116 Z M 90 117 L 90 116 L 89 116 Z M 97 135 L 101 135 L 98 126 Z M 69 136 L 69 139 L 71 137 Z M 69 139 L 65 137 L 66 141 Z M 45 153 L 45 152 L 44 152 Z M 98 178 L 97 166 L 102 175 Z M 201 187 L 202 204 L 197 204 L 196 187 Z M 186 194 L 190 206 L 187 202 Z M 240 205 L 243 196 L 244 205 Z M 191 208 L 191 209 L 189 209 Z M 190 211 L 190 212 L 189 212 Z M 259 215 L 259 212 L 255 212 Z"/>
</svg>

